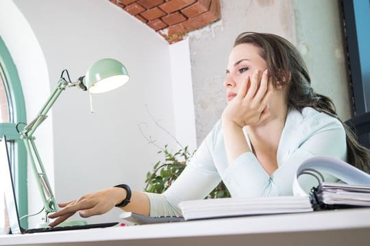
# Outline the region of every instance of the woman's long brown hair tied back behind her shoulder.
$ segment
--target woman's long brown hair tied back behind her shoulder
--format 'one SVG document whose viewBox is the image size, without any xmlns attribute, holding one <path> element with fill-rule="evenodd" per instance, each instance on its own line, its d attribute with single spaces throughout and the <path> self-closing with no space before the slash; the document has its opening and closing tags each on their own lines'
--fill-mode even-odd
<svg viewBox="0 0 370 246">
<path fill-rule="evenodd" d="M 312 89 L 304 59 L 291 42 L 271 33 L 245 32 L 236 38 L 234 46 L 238 44 L 254 44 L 260 48 L 260 56 L 267 62 L 274 86 L 279 83 L 287 89 L 288 107 L 299 111 L 304 107 L 312 107 L 341 121 L 332 100 Z M 345 128 L 348 163 L 369 173 L 369 150 L 358 143 L 347 124 L 341 123 Z"/>
</svg>

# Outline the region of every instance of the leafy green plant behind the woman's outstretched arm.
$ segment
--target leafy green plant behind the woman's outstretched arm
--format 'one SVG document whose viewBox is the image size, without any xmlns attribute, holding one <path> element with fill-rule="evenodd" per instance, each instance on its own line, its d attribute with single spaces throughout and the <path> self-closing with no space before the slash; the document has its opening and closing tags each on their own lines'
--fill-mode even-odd
<svg viewBox="0 0 370 246">
<path fill-rule="evenodd" d="M 168 146 L 164 146 L 164 149 L 160 150 L 158 154 L 164 154 L 164 161 L 158 161 L 151 172 L 147 173 L 147 184 L 144 191 L 151 193 L 163 193 L 169 188 L 169 186 L 176 180 L 176 178 L 182 173 L 186 167 L 186 163 L 190 161 L 191 157 L 195 153 L 190 153 L 188 146 L 180 148 L 174 154 L 169 151 Z M 207 196 L 207 198 L 221 198 L 230 197 L 230 193 L 225 187 L 223 182 L 214 188 L 213 191 Z"/>
</svg>

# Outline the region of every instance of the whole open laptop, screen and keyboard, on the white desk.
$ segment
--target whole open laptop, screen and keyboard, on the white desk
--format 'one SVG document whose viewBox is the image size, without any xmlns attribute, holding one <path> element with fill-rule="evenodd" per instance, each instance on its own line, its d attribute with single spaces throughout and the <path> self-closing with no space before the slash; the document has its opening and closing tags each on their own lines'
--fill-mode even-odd
<svg viewBox="0 0 370 246">
<path fill-rule="evenodd" d="M 8 211 L 9 224 L 10 224 L 10 234 L 26 234 L 34 232 L 56 232 L 64 230 L 79 230 L 79 229 L 90 229 L 90 228 L 106 228 L 111 226 L 116 226 L 119 222 L 110 223 L 94 223 L 87 224 L 83 226 L 56 226 L 48 228 L 33 228 L 25 229 L 21 227 L 18 206 L 16 204 L 16 196 L 14 192 L 14 183 L 12 180 L 11 166 L 9 159 L 8 146 L 6 144 L 5 135 L 0 141 L 0 174 L 1 179 L 3 179 L 4 191 L 5 191 L 5 206 Z"/>
</svg>

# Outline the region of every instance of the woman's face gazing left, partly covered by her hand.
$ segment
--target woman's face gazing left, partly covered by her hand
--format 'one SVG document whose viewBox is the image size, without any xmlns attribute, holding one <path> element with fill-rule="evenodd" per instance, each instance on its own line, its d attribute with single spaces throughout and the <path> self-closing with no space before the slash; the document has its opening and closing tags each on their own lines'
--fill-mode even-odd
<svg viewBox="0 0 370 246">
<path fill-rule="evenodd" d="M 267 63 L 260 57 L 259 51 L 260 48 L 254 44 L 238 44 L 232 49 L 223 83 L 226 88 L 227 102 L 236 96 L 242 81 L 251 77 L 254 70 L 258 69 L 262 74 L 267 69 Z"/>
</svg>

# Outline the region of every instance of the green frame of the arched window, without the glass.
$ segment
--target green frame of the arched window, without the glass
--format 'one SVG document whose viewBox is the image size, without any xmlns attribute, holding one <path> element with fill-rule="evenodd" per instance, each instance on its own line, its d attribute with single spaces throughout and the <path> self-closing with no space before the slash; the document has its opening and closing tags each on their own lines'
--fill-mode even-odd
<svg viewBox="0 0 370 246">
<path fill-rule="evenodd" d="M 18 71 L 14 61 L 8 51 L 8 48 L 0 36 L 0 64 L 5 77 L 4 83 L 8 87 L 8 100 L 12 105 L 12 115 L 10 119 L 13 122 L 0 123 L 0 135 L 6 135 L 9 141 L 14 141 L 14 178 L 16 180 L 16 195 L 18 197 L 18 212 L 20 216 L 28 213 L 28 195 L 27 195 L 27 152 L 23 140 L 16 131 L 17 122 L 27 122 L 25 100 L 21 81 L 18 77 Z M 27 219 L 21 221 L 23 228 L 28 228 Z"/>
</svg>

